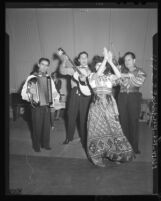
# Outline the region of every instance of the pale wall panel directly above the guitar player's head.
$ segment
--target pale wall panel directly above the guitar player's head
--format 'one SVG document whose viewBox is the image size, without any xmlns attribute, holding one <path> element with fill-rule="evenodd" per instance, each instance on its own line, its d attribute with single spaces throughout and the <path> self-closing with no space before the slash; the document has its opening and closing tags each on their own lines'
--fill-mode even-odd
<svg viewBox="0 0 161 201">
<path fill-rule="evenodd" d="M 110 9 L 75 9 L 76 54 L 89 53 L 89 60 L 95 54 L 102 55 L 103 47 L 108 45 Z"/>
</svg>

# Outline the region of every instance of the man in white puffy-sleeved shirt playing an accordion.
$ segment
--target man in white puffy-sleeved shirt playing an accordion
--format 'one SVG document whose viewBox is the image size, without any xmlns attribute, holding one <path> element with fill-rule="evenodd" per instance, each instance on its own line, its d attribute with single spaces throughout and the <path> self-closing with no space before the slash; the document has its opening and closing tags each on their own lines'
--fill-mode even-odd
<svg viewBox="0 0 161 201">
<path fill-rule="evenodd" d="M 31 103 L 33 148 L 40 152 L 40 148 L 50 150 L 50 106 L 59 101 L 60 95 L 55 84 L 48 75 L 50 60 L 40 58 L 38 72 L 26 79 L 21 96 Z"/>
</svg>

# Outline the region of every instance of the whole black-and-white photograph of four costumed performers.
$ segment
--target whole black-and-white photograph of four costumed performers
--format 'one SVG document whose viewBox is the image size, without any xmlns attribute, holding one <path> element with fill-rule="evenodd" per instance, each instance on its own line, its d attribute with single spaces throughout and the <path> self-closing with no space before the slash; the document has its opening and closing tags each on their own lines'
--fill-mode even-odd
<svg viewBox="0 0 161 201">
<path fill-rule="evenodd" d="M 67 5 L 5 7 L 8 194 L 155 194 L 157 3 Z"/>
</svg>

